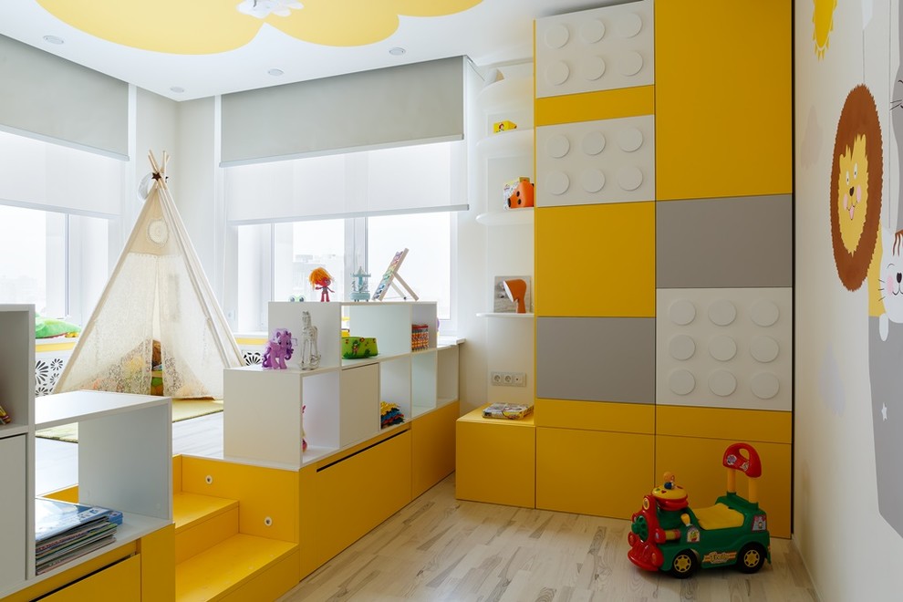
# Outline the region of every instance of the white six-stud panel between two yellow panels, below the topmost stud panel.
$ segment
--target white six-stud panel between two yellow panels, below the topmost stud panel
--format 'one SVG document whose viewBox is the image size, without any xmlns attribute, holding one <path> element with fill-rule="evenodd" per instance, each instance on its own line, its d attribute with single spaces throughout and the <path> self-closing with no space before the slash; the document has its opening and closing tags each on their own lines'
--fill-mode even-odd
<svg viewBox="0 0 903 602">
<path fill-rule="evenodd" d="M 536 129 L 536 206 L 655 199 L 655 118 Z"/>
</svg>

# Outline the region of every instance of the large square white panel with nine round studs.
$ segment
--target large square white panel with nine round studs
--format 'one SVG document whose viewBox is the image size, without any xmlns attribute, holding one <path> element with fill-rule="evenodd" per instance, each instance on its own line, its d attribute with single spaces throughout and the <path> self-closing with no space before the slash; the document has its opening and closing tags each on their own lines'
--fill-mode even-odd
<svg viewBox="0 0 903 602">
<path fill-rule="evenodd" d="M 657 291 L 656 403 L 791 410 L 791 289 Z"/>
</svg>

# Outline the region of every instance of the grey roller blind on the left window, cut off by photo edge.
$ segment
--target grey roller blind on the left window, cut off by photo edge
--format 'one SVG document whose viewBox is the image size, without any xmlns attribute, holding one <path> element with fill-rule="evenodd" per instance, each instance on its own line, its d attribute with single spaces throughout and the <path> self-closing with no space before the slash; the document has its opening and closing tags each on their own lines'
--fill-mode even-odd
<svg viewBox="0 0 903 602">
<path fill-rule="evenodd" d="M 0 36 L 0 126 L 129 154 L 129 85 Z"/>
</svg>

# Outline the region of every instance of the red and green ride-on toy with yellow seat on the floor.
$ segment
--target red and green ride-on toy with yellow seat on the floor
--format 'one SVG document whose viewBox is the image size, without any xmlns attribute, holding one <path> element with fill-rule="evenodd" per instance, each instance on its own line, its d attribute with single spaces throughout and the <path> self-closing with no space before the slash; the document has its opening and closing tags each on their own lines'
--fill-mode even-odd
<svg viewBox="0 0 903 602">
<path fill-rule="evenodd" d="M 759 507 L 755 486 L 762 474 L 759 454 L 752 445 L 733 443 L 721 463 L 727 468 L 727 493 L 713 506 L 695 511 L 674 476 L 665 473 L 665 483 L 643 497 L 643 507 L 633 514 L 630 562 L 686 578 L 711 566 L 735 565 L 755 573 L 765 560 L 772 561 L 767 515 Z M 737 495 L 737 472 L 749 477 L 749 500 Z"/>
</svg>

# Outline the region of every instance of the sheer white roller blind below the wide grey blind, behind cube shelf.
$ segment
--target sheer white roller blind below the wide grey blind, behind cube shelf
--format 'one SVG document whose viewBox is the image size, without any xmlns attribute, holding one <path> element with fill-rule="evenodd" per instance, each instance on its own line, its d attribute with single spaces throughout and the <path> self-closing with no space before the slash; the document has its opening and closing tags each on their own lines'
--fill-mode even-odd
<svg viewBox="0 0 903 602">
<path fill-rule="evenodd" d="M 308 157 L 224 170 L 226 217 L 259 223 L 450 211 L 463 181 L 463 142 Z"/>
</svg>

